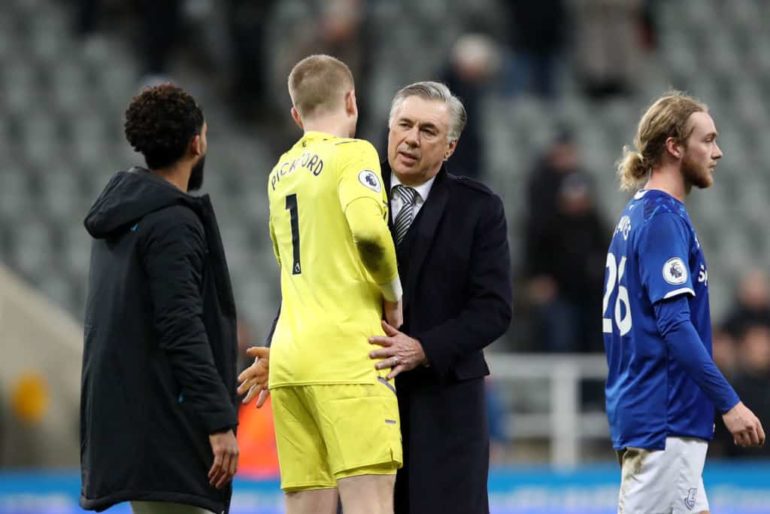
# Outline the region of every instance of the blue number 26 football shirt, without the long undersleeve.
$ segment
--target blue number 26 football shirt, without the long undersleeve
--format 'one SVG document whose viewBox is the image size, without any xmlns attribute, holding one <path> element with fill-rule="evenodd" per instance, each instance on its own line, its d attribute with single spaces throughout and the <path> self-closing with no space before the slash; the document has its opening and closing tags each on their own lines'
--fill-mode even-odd
<svg viewBox="0 0 770 514">
<path fill-rule="evenodd" d="M 654 304 L 679 295 L 711 355 L 708 270 L 687 210 L 663 191 L 639 191 L 615 228 L 605 271 L 607 416 L 617 450 L 713 436 L 713 403 L 669 355 L 656 325 Z"/>
</svg>

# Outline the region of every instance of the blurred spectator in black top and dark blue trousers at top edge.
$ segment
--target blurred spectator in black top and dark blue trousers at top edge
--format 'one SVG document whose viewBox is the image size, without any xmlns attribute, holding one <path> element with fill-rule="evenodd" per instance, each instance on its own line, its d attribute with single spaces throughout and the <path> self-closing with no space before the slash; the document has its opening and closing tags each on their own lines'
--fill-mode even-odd
<svg viewBox="0 0 770 514">
<path fill-rule="evenodd" d="M 506 92 L 530 91 L 544 98 L 558 93 L 556 72 L 567 34 L 564 0 L 503 1 L 513 29 Z"/>
</svg>

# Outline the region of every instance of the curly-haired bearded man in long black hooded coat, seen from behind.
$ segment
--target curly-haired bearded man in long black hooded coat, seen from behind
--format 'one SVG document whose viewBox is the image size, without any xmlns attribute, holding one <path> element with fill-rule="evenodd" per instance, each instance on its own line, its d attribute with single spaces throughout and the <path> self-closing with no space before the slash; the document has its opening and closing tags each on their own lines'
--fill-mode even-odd
<svg viewBox="0 0 770 514">
<path fill-rule="evenodd" d="M 209 197 L 187 194 L 203 181 L 206 123 L 164 84 L 133 99 L 125 133 L 149 169 L 118 172 L 85 219 L 80 504 L 224 514 L 238 464 L 235 303 Z"/>
</svg>

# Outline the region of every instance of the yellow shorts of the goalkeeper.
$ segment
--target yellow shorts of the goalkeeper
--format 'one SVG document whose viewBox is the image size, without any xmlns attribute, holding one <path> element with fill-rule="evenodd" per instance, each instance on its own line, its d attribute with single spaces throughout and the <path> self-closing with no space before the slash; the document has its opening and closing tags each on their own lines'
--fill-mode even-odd
<svg viewBox="0 0 770 514">
<path fill-rule="evenodd" d="M 272 396 L 281 489 L 327 489 L 401 467 L 401 424 L 392 381 L 285 386 Z"/>
</svg>

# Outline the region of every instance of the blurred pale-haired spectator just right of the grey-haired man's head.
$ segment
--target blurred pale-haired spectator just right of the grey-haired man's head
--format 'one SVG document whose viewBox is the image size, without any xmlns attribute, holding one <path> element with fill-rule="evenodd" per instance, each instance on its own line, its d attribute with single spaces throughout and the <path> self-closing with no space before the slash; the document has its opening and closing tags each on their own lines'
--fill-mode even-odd
<svg viewBox="0 0 770 514">
<path fill-rule="evenodd" d="M 482 34 L 464 34 L 452 47 L 449 66 L 441 80 L 462 100 L 468 121 L 457 150 L 447 163 L 456 175 L 482 177 L 486 174 L 481 101 L 485 89 L 499 67 L 495 43 Z"/>
</svg>

